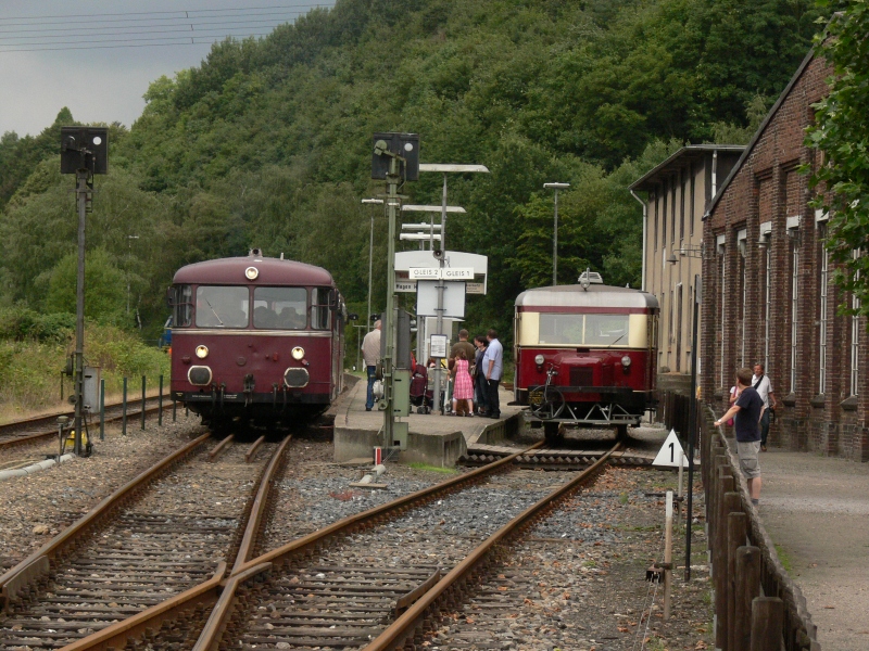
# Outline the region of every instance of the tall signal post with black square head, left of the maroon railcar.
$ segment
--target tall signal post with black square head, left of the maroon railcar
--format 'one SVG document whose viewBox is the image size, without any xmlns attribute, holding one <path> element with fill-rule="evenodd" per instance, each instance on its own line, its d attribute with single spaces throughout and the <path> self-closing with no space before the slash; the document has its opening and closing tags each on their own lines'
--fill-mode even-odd
<svg viewBox="0 0 869 651">
<path fill-rule="evenodd" d="M 93 175 L 108 171 L 109 129 L 105 127 L 61 128 L 61 174 L 74 174 L 78 204 L 78 268 L 75 295 L 75 444 L 83 454 L 85 407 L 85 221 L 90 206 Z"/>
</svg>

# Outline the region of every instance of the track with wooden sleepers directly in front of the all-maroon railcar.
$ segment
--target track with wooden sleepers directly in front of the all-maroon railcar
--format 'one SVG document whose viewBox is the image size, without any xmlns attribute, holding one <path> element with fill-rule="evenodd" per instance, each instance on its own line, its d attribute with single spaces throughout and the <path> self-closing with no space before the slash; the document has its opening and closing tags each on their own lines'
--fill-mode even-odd
<svg viewBox="0 0 869 651">
<path fill-rule="evenodd" d="M 216 584 L 227 565 L 250 556 L 255 536 L 244 525 L 259 529 L 289 438 L 265 444 L 272 449 L 266 465 L 247 463 L 247 446 L 213 456 L 204 449 L 207 436 L 139 475 L 0 577 L 0 649 L 64 647 L 191 587 Z"/>
</svg>

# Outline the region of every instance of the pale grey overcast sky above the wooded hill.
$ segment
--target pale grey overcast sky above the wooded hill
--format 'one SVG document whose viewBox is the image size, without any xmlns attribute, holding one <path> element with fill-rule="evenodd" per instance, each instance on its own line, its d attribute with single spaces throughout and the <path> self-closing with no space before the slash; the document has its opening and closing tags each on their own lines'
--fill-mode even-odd
<svg viewBox="0 0 869 651">
<path fill-rule="evenodd" d="M 214 40 L 317 4 L 335 0 L 0 0 L 0 133 L 36 136 L 63 106 L 130 126 L 148 85 L 199 65 Z"/>
</svg>

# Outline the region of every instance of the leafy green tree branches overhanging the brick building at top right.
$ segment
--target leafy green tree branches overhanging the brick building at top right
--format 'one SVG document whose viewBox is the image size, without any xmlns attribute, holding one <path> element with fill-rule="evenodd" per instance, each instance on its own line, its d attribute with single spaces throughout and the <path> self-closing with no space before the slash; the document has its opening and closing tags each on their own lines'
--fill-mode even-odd
<svg viewBox="0 0 869 651">
<path fill-rule="evenodd" d="M 835 279 L 860 303 L 845 311 L 869 315 L 869 2 L 818 0 L 832 9 L 827 31 L 818 36 L 816 52 L 833 66 L 830 93 L 815 107 L 815 125 L 807 131 L 809 146 L 823 152 L 811 186 L 820 192 L 814 204 L 830 214 L 827 247 L 840 263 Z"/>
</svg>

